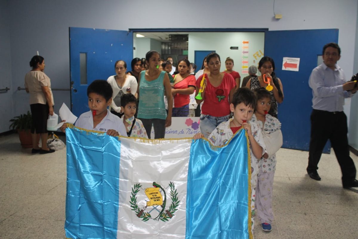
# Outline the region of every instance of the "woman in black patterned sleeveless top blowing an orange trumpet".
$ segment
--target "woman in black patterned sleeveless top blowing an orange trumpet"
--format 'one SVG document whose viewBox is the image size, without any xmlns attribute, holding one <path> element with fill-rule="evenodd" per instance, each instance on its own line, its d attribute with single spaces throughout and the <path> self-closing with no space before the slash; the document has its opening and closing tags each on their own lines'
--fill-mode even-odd
<svg viewBox="0 0 358 239">
<path fill-rule="evenodd" d="M 284 90 L 282 88 L 282 83 L 279 78 L 275 75 L 275 62 L 271 57 L 265 56 L 262 57 L 258 63 L 258 71 L 261 72 L 261 76 L 252 77 L 246 84 L 248 89 L 254 90 L 256 88 L 266 87 L 267 83 L 263 80 L 263 75 L 267 78 L 270 78 L 270 84 L 273 87 L 271 94 L 271 110 L 269 114 L 277 118 L 278 110 L 277 103 L 282 103 L 284 101 Z M 272 84 L 272 81 L 274 82 Z"/>
</svg>

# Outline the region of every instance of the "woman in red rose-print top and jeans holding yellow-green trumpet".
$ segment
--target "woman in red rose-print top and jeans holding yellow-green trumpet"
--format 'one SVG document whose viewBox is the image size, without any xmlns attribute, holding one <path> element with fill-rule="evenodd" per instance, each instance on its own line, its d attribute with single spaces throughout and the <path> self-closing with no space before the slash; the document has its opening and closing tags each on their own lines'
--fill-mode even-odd
<svg viewBox="0 0 358 239">
<path fill-rule="evenodd" d="M 205 76 L 204 91 L 201 93 L 203 99 L 195 99 L 198 105 L 204 101 L 200 115 L 200 131 L 205 137 L 208 137 L 220 123 L 229 119 L 230 103 L 236 88 L 234 78 L 228 73 L 220 72 L 221 62 L 217 53 L 209 54 L 207 63 L 210 72 L 203 75 Z M 203 76 L 200 76 L 196 82 L 196 94 L 199 92 Z"/>
</svg>

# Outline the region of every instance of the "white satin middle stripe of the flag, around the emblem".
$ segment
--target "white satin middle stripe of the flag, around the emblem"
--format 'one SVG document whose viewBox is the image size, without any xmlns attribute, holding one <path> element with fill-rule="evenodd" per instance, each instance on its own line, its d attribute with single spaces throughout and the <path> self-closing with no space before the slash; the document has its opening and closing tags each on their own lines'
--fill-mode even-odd
<svg viewBox="0 0 358 239">
<path fill-rule="evenodd" d="M 187 176 L 192 140 L 162 140 L 160 145 L 153 145 L 155 142 L 121 138 L 117 238 L 185 238 Z M 153 182 L 166 192 L 164 212 L 169 213 L 165 214 L 166 219 L 159 221 L 154 218 L 162 211 L 161 206 L 145 208 L 149 199 L 144 190 L 153 188 Z M 139 191 L 133 193 L 138 184 L 141 185 L 137 188 Z M 171 195 L 171 191 L 175 190 L 177 200 Z M 164 199 L 164 192 L 161 195 Z M 137 204 L 139 209 L 132 210 L 131 203 Z M 143 216 L 139 218 L 137 212 L 142 209 Z M 150 214 L 150 218 L 146 213 Z"/>
</svg>

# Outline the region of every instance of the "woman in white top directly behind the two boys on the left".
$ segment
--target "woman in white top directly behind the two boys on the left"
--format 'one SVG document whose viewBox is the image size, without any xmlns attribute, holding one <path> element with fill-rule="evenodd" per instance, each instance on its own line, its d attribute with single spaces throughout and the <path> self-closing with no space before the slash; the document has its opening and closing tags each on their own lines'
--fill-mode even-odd
<svg viewBox="0 0 358 239">
<path fill-rule="evenodd" d="M 114 64 L 116 75 L 110 76 L 107 82 L 112 86 L 111 113 L 121 117 L 121 96 L 131 92 L 137 92 L 138 83 L 134 76 L 127 75 L 127 63 L 125 61 L 116 61 Z"/>
</svg>

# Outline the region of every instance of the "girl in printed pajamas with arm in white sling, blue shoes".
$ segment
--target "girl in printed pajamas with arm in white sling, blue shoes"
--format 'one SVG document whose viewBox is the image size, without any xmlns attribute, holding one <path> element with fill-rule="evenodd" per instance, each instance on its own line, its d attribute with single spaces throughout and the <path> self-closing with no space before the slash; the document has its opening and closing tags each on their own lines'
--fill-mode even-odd
<svg viewBox="0 0 358 239">
<path fill-rule="evenodd" d="M 256 123 L 262 130 L 267 152 L 258 161 L 258 183 L 256 188 L 256 215 L 262 230 L 271 231 L 274 220 L 272 214 L 272 187 L 276 169 L 276 151 L 282 146 L 280 121 L 267 114 L 271 107 L 271 94 L 265 88 L 254 90 L 257 99 L 255 114 L 250 123 Z"/>
</svg>

